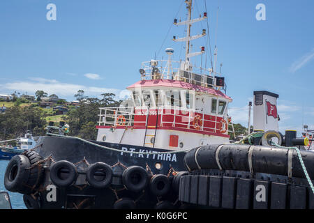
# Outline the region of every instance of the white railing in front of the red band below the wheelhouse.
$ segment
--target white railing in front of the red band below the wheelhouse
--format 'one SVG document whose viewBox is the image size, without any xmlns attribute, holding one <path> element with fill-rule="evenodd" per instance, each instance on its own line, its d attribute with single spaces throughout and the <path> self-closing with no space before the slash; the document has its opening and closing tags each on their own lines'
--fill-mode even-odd
<svg viewBox="0 0 314 223">
<path fill-rule="evenodd" d="M 112 128 L 117 126 L 134 128 L 170 127 L 214 133 L 221 133 L 220 125 L 222 120 L 225 121 L 225 125 L 232 125 L 229 122 L 229 116 L 218 114 L 207 115 L 202 112 L 193 112 L 189 109 L 180 110 L 174 107 L 158 107 L 158 112 L 157 108 L 149 109 L 149 112 L 147 110 L 147 107 L 124 107 L 124 109 L 120 107 L 102 107 L 98 115 L 98 125 Z M 154 117 L 153 120 L 149 120 L 151 117 Z M 227 128 L 225 132 L 232 132 L 232 130 Z"/>
</svg>

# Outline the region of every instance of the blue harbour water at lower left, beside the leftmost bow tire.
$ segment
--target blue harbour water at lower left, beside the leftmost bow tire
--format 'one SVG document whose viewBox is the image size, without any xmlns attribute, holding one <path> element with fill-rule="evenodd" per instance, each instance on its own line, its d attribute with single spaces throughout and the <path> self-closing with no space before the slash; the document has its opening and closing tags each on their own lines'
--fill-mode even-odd
<svg viewBox="0 0 314 223">
<path fill-rule="evenodd" d="M 9 160 L 0 160 L 0 191 L 6 191 L 10 195 L 10 201 L 13 209 L 26 209 L 23 201 L 23 195 L 19 193 L 13 193 L 6 190 L 4 187 L 4 174 L 6 173 L 6 166 Z"/>
</svg>

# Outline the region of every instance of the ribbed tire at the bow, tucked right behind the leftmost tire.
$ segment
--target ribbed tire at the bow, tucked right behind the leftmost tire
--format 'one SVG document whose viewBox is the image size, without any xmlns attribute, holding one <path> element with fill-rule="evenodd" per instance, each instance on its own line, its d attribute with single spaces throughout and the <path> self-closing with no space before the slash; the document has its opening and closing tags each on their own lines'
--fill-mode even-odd
<svg viewBox="0 0 314 223">
<path fill-rule="evenodd" d="M 33 164 L 36 164 L 36 162 L 43 160 L 43 157 L 41 157 L 35 151 L 25 151 L 24 153 L 22 153 L 22 155 L 25 155 L 27 158 L 29 158 L 31 166 Z M 38 185 L 40 185 L 41 181 L 43 180 L 43 175 L 44 175 L 43 167 L 37 166 L 35 168 L 31 168 L 29 173 L 29 179 L 27 180 L 27 185 L 37 188 Z"/>
</svg>

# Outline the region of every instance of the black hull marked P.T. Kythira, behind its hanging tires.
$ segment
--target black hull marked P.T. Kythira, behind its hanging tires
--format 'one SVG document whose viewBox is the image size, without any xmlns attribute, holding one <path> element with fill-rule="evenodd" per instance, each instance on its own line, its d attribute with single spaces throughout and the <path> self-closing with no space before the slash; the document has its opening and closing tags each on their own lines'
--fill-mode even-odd
<svg viewBox="0 0 314 223">
<path fill-rule="evenodd" d="M 120 151 L 110 151 L 105 148 L 88 144 L 79 139 L 62 137 L 40 137 L 36 151 L 45 160 L 45 174 L 38 191 L 40 191 L 40 208 L 113 208 L 114 202 L 120 198 L 130 198 L 136 203 L 136 208 L 154 208 L 160 200 L 174 202 L 177 194 L 170 191 L 166 196 L 156 199 L 154 194 L 145 189 L 142 192 L 130 192 L 124 188 L 121 182 L 121 174 L 126 167 L 140 166 L 147 169 L 151 174 L 170 174 L 170 171 L 184 171 L 184 155 L 186 153 L 163 153 L 158 155 L 126 153 L 133 152 L 165 152 L 158 148 L 143 146 L 131 146 L 124 144 L 110 144 L 99 141 L 91 141 L 101 146 L 116 148 Z M 50 166 L 53 162 L 68 160 L 77 167 L 78 178 L 70 187 L 57 187 L 55 201 L 48 201 L 51 192 L 48 185 L 51 185 Z M 113 168 L 114 177 L 112 185 L 105 189 L 96 189 L 86 183 L 85 172 L 89 164 L 105 162 Z M 156 169 L 156 163 L 161 164 Z M 171 176 L 170 176 L 171 178 Z M 47 199 L 48 198 L 48 199 Z M 79 206 L 82 203 L 82 206 Z M 74 203 L 74 204 L 73 204 Z"/>
</svg>

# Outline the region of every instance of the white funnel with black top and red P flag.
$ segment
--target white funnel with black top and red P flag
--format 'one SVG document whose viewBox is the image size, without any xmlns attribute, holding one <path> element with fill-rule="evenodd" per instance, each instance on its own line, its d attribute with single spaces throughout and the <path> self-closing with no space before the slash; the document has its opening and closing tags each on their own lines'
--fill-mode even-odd
<svg viewBox="0 0 314 223">
<path fill-rule="evenodd" d="M 254 130 L 278 131 L 278 121 L 280 120 L 277 111 L 278 97 L 279 95 L 269 91 L 254 91 Z"/>
</svg>

